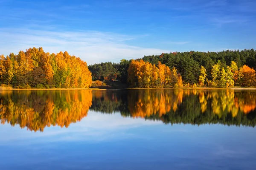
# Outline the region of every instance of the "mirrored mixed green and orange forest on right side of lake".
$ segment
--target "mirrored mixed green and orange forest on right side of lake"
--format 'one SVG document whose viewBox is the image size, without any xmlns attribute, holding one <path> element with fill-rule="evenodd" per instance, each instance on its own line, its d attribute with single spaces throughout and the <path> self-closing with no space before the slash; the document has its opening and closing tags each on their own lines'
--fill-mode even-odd
<svg viewBox="0 0 256 170">
<path fill-rule="evenodd" d="M 164 123 L 256 125 L 256 92 L 234 90 L 96 91 L 90 108 Z"/>
</svg>

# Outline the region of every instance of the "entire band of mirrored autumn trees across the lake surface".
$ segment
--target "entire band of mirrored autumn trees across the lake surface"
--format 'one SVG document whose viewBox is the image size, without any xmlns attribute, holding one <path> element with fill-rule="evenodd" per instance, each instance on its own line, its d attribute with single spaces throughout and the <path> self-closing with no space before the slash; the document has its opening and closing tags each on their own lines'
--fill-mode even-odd
<svg viewBox="0 0 256 170">
<path fill-rule="evenodd" d="M 88 110 L 201 125 L 256 125 L 256 91 L 235 90 L 68 90 L 0 93 L 1 123 L 43 131 L 68 127 Z"/>
</svg>

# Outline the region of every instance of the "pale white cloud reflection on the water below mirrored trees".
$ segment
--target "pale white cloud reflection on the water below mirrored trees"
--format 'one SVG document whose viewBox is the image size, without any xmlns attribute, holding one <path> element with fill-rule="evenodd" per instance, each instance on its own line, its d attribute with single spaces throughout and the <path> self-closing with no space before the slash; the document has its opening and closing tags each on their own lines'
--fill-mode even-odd
<svg viewBox="0 0 256 170">
<path fill-rule="evenodd" d="M 119 113 L 102 114 L 89 111 L 88 116 L 71 124 L 68 128 L 58 126 L 46 127 L 44 132 L 32 132 L 20 129 L 9 124 L 0 125 L 0 144 L 13 142 L 14 144 L 31 144 L 34 142 L 58 141 L 109 141 L 114 139 L 142 138 L 128 133 L 134 127 L 157 125 L 161 122 L 145 121 L 144 119 L 131 119 L 122 117 Z"/>
</svg>

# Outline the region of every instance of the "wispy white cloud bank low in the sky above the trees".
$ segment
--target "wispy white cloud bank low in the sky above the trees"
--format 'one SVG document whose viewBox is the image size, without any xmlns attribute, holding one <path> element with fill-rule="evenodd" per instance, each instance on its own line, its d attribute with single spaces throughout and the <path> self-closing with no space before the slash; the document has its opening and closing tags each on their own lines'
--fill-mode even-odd
<svg viewBox="0 0 256 170">
<path fill-rule="evenodd" d="M 5 56 L 27 48 L 43 47 L 44 51 L 58 53 L 67 51 L 70 55 L 80 57 L 90 64 L 99 62 L 119 62 L 121 59 L 142 58 L 170 52 L 155 48 L 141 48 L 128 45 L 128 40 L 136 36 L 128 36 L 99 31 L 41 31 L 28 28 L 0 28 L 0 54 Z"/>
</svg>

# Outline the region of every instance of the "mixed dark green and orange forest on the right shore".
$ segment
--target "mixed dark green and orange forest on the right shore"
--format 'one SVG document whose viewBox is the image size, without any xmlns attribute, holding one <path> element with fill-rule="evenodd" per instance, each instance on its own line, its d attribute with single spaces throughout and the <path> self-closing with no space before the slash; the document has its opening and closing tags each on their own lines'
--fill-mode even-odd
<svg viewBox="0 0 256 170">
<path fill-rule="evenodd" d="M 93 80 L 128 81 L 131 88 L 249 87 L 256 85 L 255 69 L 253 49 L 173 52 L 89 65 Z"/>
</svg>

